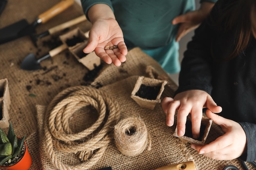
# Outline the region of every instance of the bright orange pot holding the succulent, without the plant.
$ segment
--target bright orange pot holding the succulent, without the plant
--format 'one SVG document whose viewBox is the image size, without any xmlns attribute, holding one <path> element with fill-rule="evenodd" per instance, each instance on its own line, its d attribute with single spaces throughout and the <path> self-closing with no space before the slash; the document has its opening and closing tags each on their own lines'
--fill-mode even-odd
<svg viewBox="0 0 256 170">
<path fill-rule="evenodd" d="M 30 168 L 32 164 L 32 159 L 29 154 L 29 150 L 27 149 L 27 144 L 25 141 L 24 143 L 25 143 L 25 154 L 23 155 L 22 159 L 20 159 L 20 161 L 13 166 L 9 166 L 9 167 L 0 166 L 0 168 L 4 168 L 7 170 L 28 170 Z"/>
</svg>

